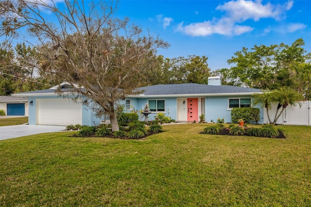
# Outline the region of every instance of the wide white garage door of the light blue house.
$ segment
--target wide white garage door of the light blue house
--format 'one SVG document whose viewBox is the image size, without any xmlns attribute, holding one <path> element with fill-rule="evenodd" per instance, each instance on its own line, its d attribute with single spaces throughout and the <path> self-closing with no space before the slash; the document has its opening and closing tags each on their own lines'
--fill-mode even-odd
<svg viewBox="0 0 311 207">
<path fill-rule="evenodd" d="M 82 104 L 69 99 L 37 99 L 37 124 L 82 124 Z"/>
</svg>

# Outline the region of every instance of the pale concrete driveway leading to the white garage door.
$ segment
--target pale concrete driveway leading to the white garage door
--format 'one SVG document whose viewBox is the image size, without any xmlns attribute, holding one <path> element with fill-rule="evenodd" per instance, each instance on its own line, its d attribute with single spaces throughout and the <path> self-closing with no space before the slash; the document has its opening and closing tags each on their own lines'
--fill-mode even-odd
<svg viewBox="0 0 311 207">
<path fill-rule="evenodd" d="M 27 135 L 35 135 L 46 132 L 59 132 L 64 129 L 66 129 L 66 126 L 47 126 L 47 125 L 0 126 L 0 140 L 8 138 L 18 138 Z"/>
</svg>

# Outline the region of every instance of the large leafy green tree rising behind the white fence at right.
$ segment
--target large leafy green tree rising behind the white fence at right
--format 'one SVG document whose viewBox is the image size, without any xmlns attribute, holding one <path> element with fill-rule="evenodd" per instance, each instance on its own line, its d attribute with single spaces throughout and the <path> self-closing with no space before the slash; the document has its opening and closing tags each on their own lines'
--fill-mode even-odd
<svg viewBox="0 0 311 207">
<path fill-rule="evenodd" d="M 303 39 L 292 45 L 255 45 L 251 50 L 242 48 L 227 62 L 235 64 L 221 69 L 229 85 L 276 89 L 290 86 L 310 96 L 311 53 L 303 48 Z"/>
</svg>

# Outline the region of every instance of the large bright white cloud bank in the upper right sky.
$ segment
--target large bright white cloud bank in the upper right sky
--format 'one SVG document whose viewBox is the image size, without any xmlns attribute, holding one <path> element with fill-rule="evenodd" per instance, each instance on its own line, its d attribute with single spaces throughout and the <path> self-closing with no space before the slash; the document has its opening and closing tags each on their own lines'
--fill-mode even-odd
<svg viewBox="0 0 311 207">
<path fill-rule="evenodd" d="M 216 7 L 216 10 L 225 12 L 223 17 L 214 17 L 212 20 L 190 23 L 189 25 L 184 25 L 182 22 L 175 31 L 190 36 L 242 35 L 254 30 L 251 26 L 241 25 L 242 22 L 248 19 L 259 21 L 261 18 L 280 20 L 285 18 L 285 12 L 293 7 L 293 3 L 293 0 L 275 5 L 270 2 L 262 4 L 261 0 L 231 0 Z M 265 30 L 265 33 L 268 32 L 270 31 Z"/>
</svg>

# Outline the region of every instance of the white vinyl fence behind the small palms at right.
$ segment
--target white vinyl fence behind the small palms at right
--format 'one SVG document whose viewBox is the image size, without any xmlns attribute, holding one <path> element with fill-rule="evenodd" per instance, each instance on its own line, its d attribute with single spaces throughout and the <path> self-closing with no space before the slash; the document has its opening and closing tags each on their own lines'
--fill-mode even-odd
<svg viewBox="0 0 311 207">
<path fill-rule="evenodd" d="M 311 126 L 311 101 L 303 101 L 300 102 L 301 107 L 299 105 L 292 106 L 288 105 L 283 114 L 278 118 L 276 121 L 277 124 L 284 124 L 284 125 L 307 125 Z M 276 115 L 276 107 L 277 104 L 273 104 L 272 108 L 269 109 L 269 116 L 271 121 L 274 120 Z M 278 113 L 281 111 L 282 108 L 278 110 Z M 269 123 L 269 119 L 267 116 L 266 108 L 264 108 L 263 113 L 263 123 Z"/>
</svg>

